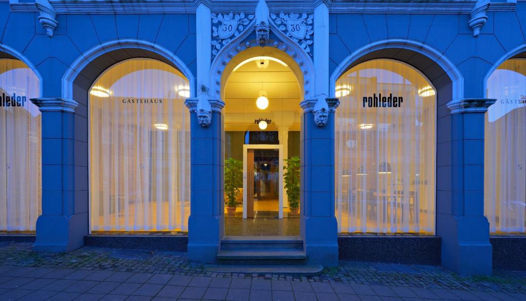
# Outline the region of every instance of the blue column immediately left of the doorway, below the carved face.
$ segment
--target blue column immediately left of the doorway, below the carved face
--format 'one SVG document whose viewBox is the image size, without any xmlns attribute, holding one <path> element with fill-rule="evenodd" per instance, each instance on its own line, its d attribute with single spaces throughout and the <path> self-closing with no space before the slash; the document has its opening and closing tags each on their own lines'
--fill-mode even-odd
<svg viewBox="0 0 526 301">
<path fill-rule="evenodd" d="M 214 263 L 223 233 L 223 129 L 221 108 L 210 100 L 211 123 L 204 127 L 197 118 L 197 99 L 188 99 L 190 109 L 190 217 L 188 258 Z"/>
</svg>

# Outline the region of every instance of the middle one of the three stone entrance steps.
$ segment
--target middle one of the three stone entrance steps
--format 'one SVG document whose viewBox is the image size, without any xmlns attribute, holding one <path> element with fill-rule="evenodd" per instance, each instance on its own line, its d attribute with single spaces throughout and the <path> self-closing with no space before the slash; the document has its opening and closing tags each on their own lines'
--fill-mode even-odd
<svg viewBox="0 0 526 301">
<path fill-rule="evenodd" d="M 221 249 L 219 260 L 305 260 L 304 250 L 299 249 Z"/>
</svg>

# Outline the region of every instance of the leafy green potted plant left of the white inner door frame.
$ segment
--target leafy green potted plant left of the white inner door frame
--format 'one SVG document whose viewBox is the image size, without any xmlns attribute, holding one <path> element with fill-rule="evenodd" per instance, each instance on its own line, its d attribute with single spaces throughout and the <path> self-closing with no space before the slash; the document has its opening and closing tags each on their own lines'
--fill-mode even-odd
<svg viewBox="0 0 526 301">
<path fill-rule="evenodd" d="M 237 208 L 237 195 L 239 187 L 243 185 L 243 163 L 234 158 L 225 160 L 225 203 L 227 205 L 228 215 L 235 215 Z"/>
</svg>

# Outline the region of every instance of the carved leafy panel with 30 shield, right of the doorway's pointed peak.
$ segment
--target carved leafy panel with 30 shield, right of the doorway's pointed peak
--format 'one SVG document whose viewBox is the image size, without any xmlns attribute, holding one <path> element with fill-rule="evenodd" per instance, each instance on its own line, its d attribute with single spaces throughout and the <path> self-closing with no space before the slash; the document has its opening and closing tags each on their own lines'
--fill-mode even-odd
<svg viewBox="0 0 526 301">
<path fill-rule="evenodd" d="M 314 33 L 313 19 L 314 15 L 307 14 L 270 14 L 270 18 L 279 30 L 287 35 L 292 41 L 298 43 L 312 56 L 310 45 L 312 45 L 312 35 Z"/>
</svg>

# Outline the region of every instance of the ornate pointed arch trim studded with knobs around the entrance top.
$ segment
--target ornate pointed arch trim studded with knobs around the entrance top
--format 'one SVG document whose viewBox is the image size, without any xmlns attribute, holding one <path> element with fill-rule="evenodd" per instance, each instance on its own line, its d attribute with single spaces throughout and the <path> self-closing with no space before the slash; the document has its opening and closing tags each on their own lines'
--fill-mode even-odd
<svg viewBox="0 0 526 301">
<path fill-rule="evenodd" d="M 221 48 L 217 56 L 212 61 L 210 67 L 209 84 L 211 96 L 215 98 L 221 97 L 221 77 L 224 74 L 227 66 L 229 66 L 230 61 L 232 61 L 236 55 L 251 47 L 261 47 L 256 42 L 256 39 L 249 39 L 249 36 L 254 32 L 255 24 L 256 21 L 254 20 L 249 25 L 247 25 L 247 29 L 232 39 L 230 43 Z M 274 33 L 274 35 L 278 38 L 278 41 L 270 39 L 267 46 L 278 49 L 284 55 L 290 57 L 296 62 L 297 66 L 289 65 L 289 67 L 294 73 L 297 74 L 300 72 L 302 74 L 302 78 L 297 76 L 298 82 L 300 83 L 300 89 L 303 94 L 302 97 L 304 99 L 314 98 L 314 83 L 316 80 L 315 68 L 309 54 L 307 54 L 296 42 L 292 41 L 285 34 L 283 34 L 274 23 L 269 22 L 269 25 L 270 31 Z"/>
</svg>

